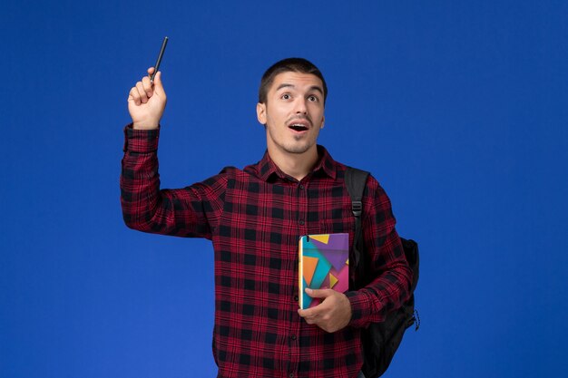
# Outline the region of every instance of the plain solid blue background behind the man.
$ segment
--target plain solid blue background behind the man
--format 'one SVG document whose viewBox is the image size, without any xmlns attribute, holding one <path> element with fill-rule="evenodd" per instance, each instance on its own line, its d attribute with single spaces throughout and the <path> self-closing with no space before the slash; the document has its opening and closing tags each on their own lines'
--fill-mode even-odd
<svg viewBox="0 0 568 378">
<path fill-rule="evenodd" d="M 372 170 L 421 248 L 387 377 L 568 368 L 563 1 L 8 0 L 2 17 L 0 376 L 210 377 L 212 250 L 119 201 L 127 94 L 162 37 L 162 186 L 260 160 L 260 75 L 325 74 L 320 143 Z"/>
</svg>

